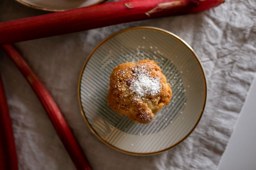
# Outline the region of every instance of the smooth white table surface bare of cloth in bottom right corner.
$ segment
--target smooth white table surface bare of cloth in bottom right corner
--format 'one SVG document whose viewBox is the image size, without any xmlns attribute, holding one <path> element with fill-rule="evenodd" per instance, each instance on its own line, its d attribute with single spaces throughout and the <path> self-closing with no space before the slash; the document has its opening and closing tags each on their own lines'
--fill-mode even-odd
<svg viewBox="0 0 256 170">
<path fill-rule="evenodd" d="M 247 169 L 256 167 L 256 78 L 241 110 L 240 118 L 222 155 L 219 170 Z M 232 163 L 231 163 L 232 162 Z"/>
</svg>

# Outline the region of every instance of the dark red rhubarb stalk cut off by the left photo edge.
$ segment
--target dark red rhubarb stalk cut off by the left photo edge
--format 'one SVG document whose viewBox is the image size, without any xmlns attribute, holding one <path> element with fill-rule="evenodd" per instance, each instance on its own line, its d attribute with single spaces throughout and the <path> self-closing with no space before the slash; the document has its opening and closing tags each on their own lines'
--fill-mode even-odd
<svg viewBox="0 0 256 170">
<path fill-rule="evenodd" d="M 18 170 L 12 122 L 0 75 L 0 169 Z"/>
</svg>

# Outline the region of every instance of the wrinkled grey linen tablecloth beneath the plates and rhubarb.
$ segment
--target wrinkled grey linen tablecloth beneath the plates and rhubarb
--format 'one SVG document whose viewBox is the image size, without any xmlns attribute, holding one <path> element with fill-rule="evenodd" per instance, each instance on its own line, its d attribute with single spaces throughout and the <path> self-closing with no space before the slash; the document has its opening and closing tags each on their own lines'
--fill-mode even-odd
<svg viewBox="0 0 256 170">
<path fill-rule="evenodd" d="M 226 0 L 197 14 L 119 24 L 15 46 L 52 94 L 93 169 L 216 169 L 256 71 L 255 9 L 254 0 Z M 13 0 L 0 1 L 0 22 L 45 13 Z M 109 148 L 91 133 L 78 104 L 78 78 L 86 57 L 108 35 L 133 26 L 155 26 L 180 36 L 194 48 L 207 76 L 208 100 L 201 121 L 186 140 L 158 155 L 126 155 Z M 19 168 L 75 169 L 41 103 L 2 49 L 0 71 Z"/>
</svg>

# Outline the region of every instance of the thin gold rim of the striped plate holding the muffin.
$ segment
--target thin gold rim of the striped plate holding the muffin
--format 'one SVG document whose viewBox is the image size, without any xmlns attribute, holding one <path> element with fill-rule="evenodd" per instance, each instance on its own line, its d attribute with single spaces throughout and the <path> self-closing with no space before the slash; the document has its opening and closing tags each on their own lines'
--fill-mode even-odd
<svg viewBox="0 0 256 170">
<path fill-rule="evenodd" d="M 178 142 L 176 142 L 175 144 L 173 144 L 172 146 L 170 146 L 169 148 L 165 148 L 163 150 L 160 150 L 160 151 L 155 151 L 155 152 L 149 152 L 149 153 L 138 153 L 138 152 L 130 152 L 130 151 L 126 151 L 126 150 L 123 150 L 123 149 L 120 149 L 120 148 L 117 148 L 116 146 L 112 145 L 112 144 L 109 144 L 107 141 L 105 141 L 101 136 L 99 136 L 95 131 L 94 129 L 91 127 L 90 123 L 88 122 L 86 116 L 85 116 L 85 113 L 84 113 L 84 110 L 83 110 L 83 107 L 82 107 L 82 104 L 81 104 L 81 97 L 80 97 L 80 84 L 81 84 L 81 79 L 82 79 L 82 76 L 83 76 L 83 72 L 84 72 L 84 69 L 85 69 L 85 66 L 87 64 L 87 62 L 89 61 L 89 59 L 91 58 L 92 54 L 99 48 L 99 46 L 101 46 L 105 41 L 107 41 L 108 39 L 112 38 L 113 36 L 116 36 L 117 34 L 120 34 L 122 32 L 126 32 L 126 31 L 130 31 L 130 30 L 134 30 L 134 29 L 150 29 L 150 30 L 155 30 L 155 31 L 159 31 L 159 32 L 163 32 L 163 33 L 166 33 L 166 34 L 169 34 L 170 36 L 173 36 L 174 38 L 178 39 L 180 42 L 182 42 L 185 46 L 187 46 L 187 48 L 194 54 L 194 57 L 195 59 L 197 60 L 197 62 L 199 63 L 199 66 L 200 66 L 200 69 L 203 73 L 203 79 L 204 79 L 204 104 L 203 104 L 203 107 L 202 107 L 202 111 L 200 113 L 200 116 L 196 122 L 196 124 L 194 125 L 194 127 L 191 128 L 191 130 L 189 131 L 189 133 L 184 136 L 183 138 L 181 138 Z M 78 101 L 79 101 L 79 107 L 80 107 L 80 112 L 82 114 L 82 116 L 84 117 L 84 120 L 86 122 L 86 124 L 88 125 L 89 129 L 91 130 L 91 132 L 97 136 L 97 138 L 99 138 L 103 143 L 105 143 L 106 145 L 108 145 L 109 147 L 117 150 L 117 151 L 120 151 L 120 152 L 123 152 L 123 153 L 126 153 L 126 154 L 129 154 L 129 155 L 156 155 L 156 154 L 160 154 L 162 152 L 165 152 L 175 146 L 177 146 L 178 144 L 180 144 L 182 141 L 184 141 L 193 131 L 194 129 L 196 128 L 197 124 L 199 123 L 199 121 L 201 120 L 201 117 L 203 115 L 203 112 L 204 112 L 204 109 L 205 109 L 205 105 L 206 105 L 206 99 L 207 99 L 207 81 L 206 81 L 206 74 L 205 74 L 205 71 L 204 71 L 204 68 L 202 67 L 202 63 L 201 61 L 199 60 L 199 57 L 197 56 L 197 54 L 195 53 L 194 49 L 192 49 L 192 47 L 187 43 L 185 42 L 183 39 L 181 39 L 179 36 L 175 35 L 174 33 L 172 32 L 169 32 L 165 29 L 161 29 L 161 28 L 157 28 L 157 27 L 152 27 L 152 26 L 138 26 L 138 27 L 131 27 L 131 28 L 126 28 L 126 29 L 122 29 L 120 31 L 117 31 L 113 34 L 111 34 L 110 36 L 106 37 L 105 39 L 103 39 L 101 42 L 98 43 L 97 46 L 94 47 L 94 49 L 91 51 L 91 53 L 87 56 L 84 64 L 83 64 L 83 67 L 80 71 L 80 75 L 79 75 L 79 80 L 78 80 Z"/>
</svg>

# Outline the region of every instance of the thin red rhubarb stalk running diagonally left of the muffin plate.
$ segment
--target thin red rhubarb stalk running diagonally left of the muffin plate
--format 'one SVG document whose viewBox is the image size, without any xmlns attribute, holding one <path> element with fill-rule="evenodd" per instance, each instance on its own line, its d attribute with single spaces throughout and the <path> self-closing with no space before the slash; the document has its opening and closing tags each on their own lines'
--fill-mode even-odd
<svg viewBox="0 0 256 170">
<path fill-rule="evenodd" d="M 49 94 L 48 90 L 44 87 L 44 84 L 12 45 L 6 44 L 2 47 L 23 73 L 23 76 L 27 79 L 30 86 L 37 94 L 37 97 L 43 104 L 57 134 L 59 135 L 59 138 L 61 139 L 64 147 L 69 153 L 70 158 L 76 166 L 76 169 L 91 170 L 82 148 L 76 141 L 68 124 L 62 116 L 62 113 L 60 112 L 52 96 Z"/>
</svg>

